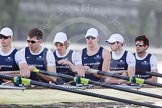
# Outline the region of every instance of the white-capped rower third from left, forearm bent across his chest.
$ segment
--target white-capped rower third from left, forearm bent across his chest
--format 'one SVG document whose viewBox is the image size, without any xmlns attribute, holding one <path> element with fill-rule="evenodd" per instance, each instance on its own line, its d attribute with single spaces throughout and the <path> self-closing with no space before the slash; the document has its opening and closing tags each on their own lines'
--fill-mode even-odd
<svg viewBox="0 0 162 108">
<path fill-rule="evenodd" d="M 68 48 L 70 43 L 67 39 L 67 34 L 64 32 L 56 33 L 53 43 L 56 47 L 56 51 L 53 54 L 56 59 L 57 72 L 71 76 L 84 76 L 81 55 L 79 52 Z M 71 80 L 63 79 L 63 81 L 67 83 Z"/>
</svg>

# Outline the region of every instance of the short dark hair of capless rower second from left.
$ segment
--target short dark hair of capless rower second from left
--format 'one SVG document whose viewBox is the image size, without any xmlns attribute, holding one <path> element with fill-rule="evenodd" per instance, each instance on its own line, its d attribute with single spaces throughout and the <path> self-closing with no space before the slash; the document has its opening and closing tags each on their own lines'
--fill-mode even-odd
<svg viewBox="0 0 162 108">
<path fill-rule="evenodd" d="M 33 28 L 29 31 L 28 36 L 30 38 L 36 37 L 39 40 L 43 38 L 43 32 L 39 28 Z"/>
</svg>

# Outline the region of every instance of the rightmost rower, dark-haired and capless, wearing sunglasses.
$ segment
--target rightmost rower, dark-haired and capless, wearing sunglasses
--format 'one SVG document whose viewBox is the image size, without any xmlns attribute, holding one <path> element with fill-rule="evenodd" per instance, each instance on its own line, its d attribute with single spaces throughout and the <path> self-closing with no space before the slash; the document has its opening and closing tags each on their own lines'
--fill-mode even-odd
<svg viewBox="0 0 162 108">
<path fill-rule="evenodd" d="M 149 48 L 149 39 L 146 35 L 137 36 L 135 38 L 136 53 L 136 77 L 157 82 L 157 77 L 146 74 L 145 72 L 158 72 L 157 58 L 147 53 Z"/>
</svg>

